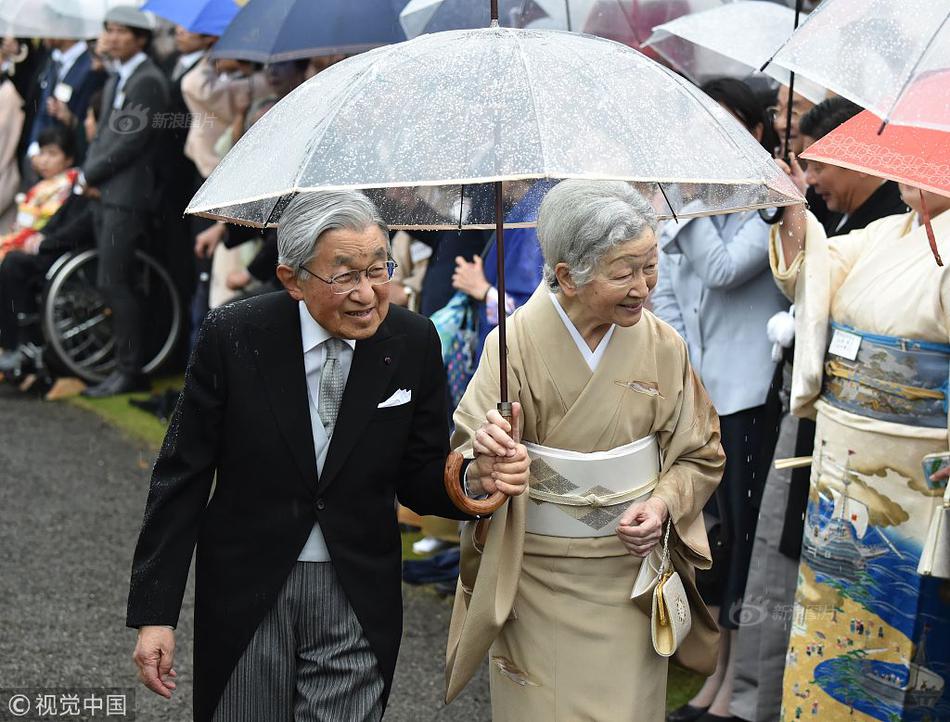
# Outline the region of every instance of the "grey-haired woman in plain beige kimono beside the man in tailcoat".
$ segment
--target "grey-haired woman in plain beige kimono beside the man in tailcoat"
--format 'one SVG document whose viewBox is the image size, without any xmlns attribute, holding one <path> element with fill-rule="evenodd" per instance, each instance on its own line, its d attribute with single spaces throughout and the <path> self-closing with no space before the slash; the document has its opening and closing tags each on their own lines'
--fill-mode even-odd
<svg viewBox="0 0 950 722">
<path fill-rule="evenodd" d="M 710 564 L 700 512 L 724 456 L 685 343 L 644 308 L 657 281 L 655 229 L 652 207 L 626 183 L 562 181 L 541 205 L 544 282 L 508 324 L 509 389 L 529 452 L 573 452 L 587 471 L 566 478 L 535 457 L 530 498 L 463 532 L 447 699 L 489 653 L 496 722 L 663 718 L 667 660 L 652 646 L 648 604 L 631 591 L 668 520 L 692 611 L 679 661 L 705 674 L 716 664 L 718 632 L 694 568 Z M 479 425 L 497 394 L 493 331 L 455 413 L 464 456 L 492 450 Z M 604 490 L 586 460 L 610 451 L 629 454 L 629 474 Z"/>
</svg>

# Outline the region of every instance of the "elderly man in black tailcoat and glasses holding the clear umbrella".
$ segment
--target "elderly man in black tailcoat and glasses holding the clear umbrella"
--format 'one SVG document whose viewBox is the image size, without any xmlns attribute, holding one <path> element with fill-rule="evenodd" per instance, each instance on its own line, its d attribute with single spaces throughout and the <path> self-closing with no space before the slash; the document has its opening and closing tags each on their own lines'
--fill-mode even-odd
<svg viewBox="0 0 950 722">
<path fill-rule="evenodd" d="M 197 542 L 196 720 L 378 720 L 402 629 L 396 500 L 463 518 L 442 484 L 439 338 L 389 304 L 387 230 L 360 193 L 298 196 L 279 230 L 286 292 L 215 309 L 199 333 L 127 618 L 142 681 L 170 696 Z M 488 412 L 468 493 L 524 491 L 510 431 Z"/>
</svg>

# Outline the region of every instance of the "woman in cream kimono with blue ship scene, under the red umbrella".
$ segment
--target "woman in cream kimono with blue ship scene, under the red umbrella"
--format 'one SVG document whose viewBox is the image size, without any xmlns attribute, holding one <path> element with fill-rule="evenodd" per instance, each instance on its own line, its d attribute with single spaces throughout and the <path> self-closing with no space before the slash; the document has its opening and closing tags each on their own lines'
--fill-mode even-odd
<svg viewBox="0 0 950 722">
<path fill-rule="evenodd" d="M 901 195 L 912 212 L 847 235 L 827 238 L 801 207 L 772 231 L 796 308 L 792 412 L 817 421 L 785 720 L 950 719 L 947 583 L 918 573 L 943 496 L 921 461 L 948 448 L 950 275 L 920 193 Z M 923 196 L 946 258 L 950 198 Z"/>
</svg>

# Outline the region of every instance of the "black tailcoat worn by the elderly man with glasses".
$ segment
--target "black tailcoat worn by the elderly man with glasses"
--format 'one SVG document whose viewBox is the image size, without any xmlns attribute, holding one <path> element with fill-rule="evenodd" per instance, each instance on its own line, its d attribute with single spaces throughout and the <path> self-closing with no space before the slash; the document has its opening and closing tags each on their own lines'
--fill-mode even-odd
<svg viewBox="0 0 950 722">
<path fill-rule="evenodd" d="M 462 518 L 442 487 L 445 384 L 432 323 L 391 307 L 356 344 L 318 479 L 297 303 L 281 291 L 208 316 L 152 472 L 127 617 L 177 624 L 197 542 L 196 720 L 211 719 L 315 520 L 388 696 L 402 632 L 396 497 Z M 400 388 L 408 404 L 377 408 Z"/>
</svg>

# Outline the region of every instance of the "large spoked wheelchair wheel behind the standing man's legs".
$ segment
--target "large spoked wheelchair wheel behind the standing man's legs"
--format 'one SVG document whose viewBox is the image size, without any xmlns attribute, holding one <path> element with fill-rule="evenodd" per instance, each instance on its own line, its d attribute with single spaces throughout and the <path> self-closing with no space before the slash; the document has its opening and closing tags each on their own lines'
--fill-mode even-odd
<svg viewBox="0 0 950 722">
<path fill-rule="evenodd" d="M 143 370 L 151 373 L 175 347 L 182 307 L 168 272 L 141 251 L 135 256 L 133 288 L 143 312 Z M 115 369 L 112 310 L 96 289 L 98 266 L 95 249 L 70 257 L 49 274 L 43 297 L 48 363 L 87 383 L 98 383 Z"/>
</svg>

